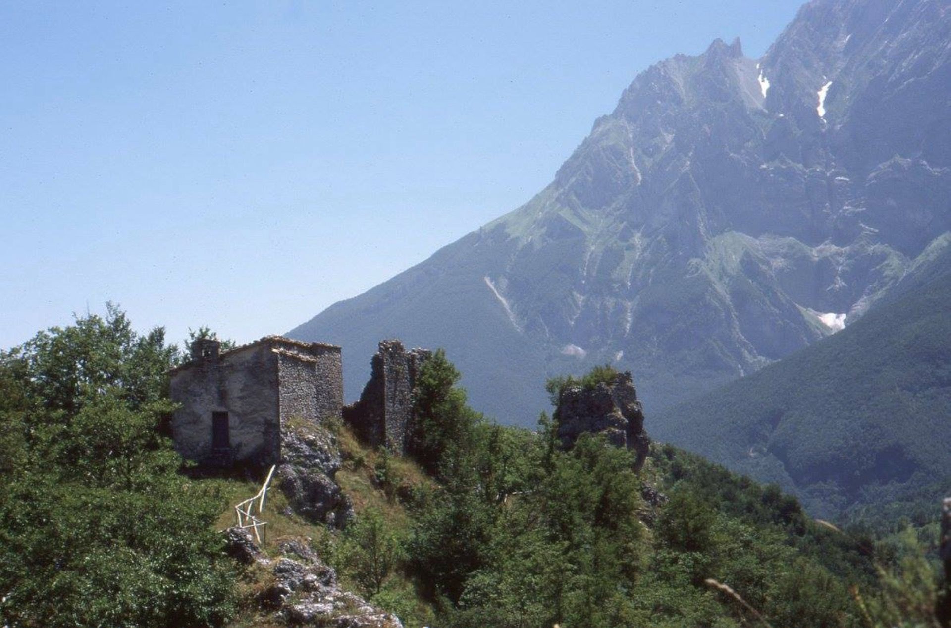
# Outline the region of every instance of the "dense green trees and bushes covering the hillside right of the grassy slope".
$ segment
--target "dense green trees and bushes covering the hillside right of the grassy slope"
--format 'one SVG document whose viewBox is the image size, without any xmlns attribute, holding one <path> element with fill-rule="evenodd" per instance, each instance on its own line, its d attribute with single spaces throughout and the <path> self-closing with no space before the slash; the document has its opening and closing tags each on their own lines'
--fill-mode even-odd
<svg viewBox="0 0 951 628">
<path fill-rule="evenodd" d="M 545 417 L 536 433 L 474 418 L 443 356 L 424 369 L 417 409 L 439 403 L 434 433 L 457 440 L 431 449 L 447 452 L 429 460 L 438 489 L 406 502 L 407 559 L 394 571 L 417 583 L 438 625 L 741 626 L 762 615 L 777 628 L 884 626 L 889 604 L 914 603 L 933 618 L 933 579 L 909 580 L 918 572 L 887 548 L 812 522 L 776 486 L 669 445 L 654 445 L 639 474 L 597 436 L 564 451 Z M 645 500 L 647 486 L 669 499 Z M 877 561 L 896 565 L 902 595 L 880 593 Z"/>
</svg>

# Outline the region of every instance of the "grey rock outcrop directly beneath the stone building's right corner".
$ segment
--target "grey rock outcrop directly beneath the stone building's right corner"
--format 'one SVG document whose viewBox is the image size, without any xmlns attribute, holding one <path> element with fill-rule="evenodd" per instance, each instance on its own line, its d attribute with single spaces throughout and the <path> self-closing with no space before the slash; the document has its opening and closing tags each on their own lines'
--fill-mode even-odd
<svg viewBox="0 0 951 628">
<path fill-rule="evenodd" d="M 290 507 L 301 517 L 337 527 L 353 517 L 353 504 L 334 480 L 340 464 L 340 448 L 325 428 L 284 427 L 278 475 Z"/>
</svg>

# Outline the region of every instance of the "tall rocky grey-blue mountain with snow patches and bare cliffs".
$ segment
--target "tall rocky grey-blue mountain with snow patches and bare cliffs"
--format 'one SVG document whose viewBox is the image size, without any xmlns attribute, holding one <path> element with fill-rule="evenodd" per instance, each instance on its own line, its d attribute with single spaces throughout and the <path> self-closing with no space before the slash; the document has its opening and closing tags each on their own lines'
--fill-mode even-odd
<svg viewBox="0 0 951 628">
<path fill-rule="evenodd" d="M 648 410 L 840 329 L 951 228 L 947 0 L 816 0 L 638 75 L 525 206 L 290 332 L 444 346 L 474 405 L 534 422 L 539 382 L 631 369 Z"/>
</svg>

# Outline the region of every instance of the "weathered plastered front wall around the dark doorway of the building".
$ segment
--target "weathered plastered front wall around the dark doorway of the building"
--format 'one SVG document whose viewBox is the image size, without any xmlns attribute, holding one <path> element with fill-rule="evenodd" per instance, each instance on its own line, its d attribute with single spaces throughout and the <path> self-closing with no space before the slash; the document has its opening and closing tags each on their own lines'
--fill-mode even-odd
<svg viewBox="0 0 951 628">
<path fill-rule="evenodd" d="M 173 372 L 170 393 L 181 403 L 172 435 L 185 458 L 216 466 L 280 459 L 277 356 L 269 347 L 250 345 L 189 363 Z M 228 413 L 227 451 L 212 447 L 213 412 Z"/>
</svg>

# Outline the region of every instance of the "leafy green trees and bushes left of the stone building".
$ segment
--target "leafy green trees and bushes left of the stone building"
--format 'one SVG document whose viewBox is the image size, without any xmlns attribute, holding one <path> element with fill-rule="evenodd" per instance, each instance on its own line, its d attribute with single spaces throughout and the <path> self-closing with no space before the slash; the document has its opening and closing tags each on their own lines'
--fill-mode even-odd
<svg viewBox="0 0 951 628">
<path fill-rule="evenodd" d="M 213 492 L 161 435 L 177 349 L 109 306 L 0 353 L 0 618 L 213 626 L 233 608 Z"/>
</svg>

